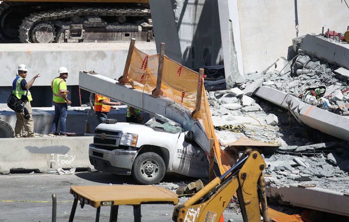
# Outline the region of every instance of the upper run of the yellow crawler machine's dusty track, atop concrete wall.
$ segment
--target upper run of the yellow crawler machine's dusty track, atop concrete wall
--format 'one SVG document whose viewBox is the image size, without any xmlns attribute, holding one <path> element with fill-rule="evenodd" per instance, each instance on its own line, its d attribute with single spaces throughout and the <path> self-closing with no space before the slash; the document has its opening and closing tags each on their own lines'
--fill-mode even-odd
<svg viewBox="0 0 349 222">
<path fill-rule="evenodd" d="M 39 13 L 33 13 L 22 20 L 20 25 L 20 42 L 30 43 L 29 30 L 30 28 L 40 21 L 50 21 L 63 18 L 72 18 L 74 16 L 150 16 L 150 10 L 142 11 L 138 8 L 111 8 L 111 7 L 81 7 L 81 8 L 65 8 L 50 11 L 42 11 Z"/>
</svg>

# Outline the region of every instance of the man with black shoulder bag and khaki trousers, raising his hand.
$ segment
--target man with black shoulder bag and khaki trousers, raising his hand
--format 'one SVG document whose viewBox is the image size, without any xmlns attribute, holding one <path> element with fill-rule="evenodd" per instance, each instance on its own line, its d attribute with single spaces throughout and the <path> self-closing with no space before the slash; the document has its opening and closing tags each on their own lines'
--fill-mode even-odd
<svg viewBox="0 0 349 222">
<path fill-rule="evenodd" d="M 18 66 L 17 76 L 12 83 L 12 94 L 21 99 L 24 102 L 23 112 L 16 112 L 16 125 L 15 136 L 16 137 L 34 137 L 34 122 L 32 117 L 32 109 L 30 101 L 32 101 L 29 88 L 33 85 L 36 78 L 40 77 L 40 74 L 34 76 L 28 83 L 25 81 L 27 77 L 27 66 L 21 64 Z"/>
</svg>

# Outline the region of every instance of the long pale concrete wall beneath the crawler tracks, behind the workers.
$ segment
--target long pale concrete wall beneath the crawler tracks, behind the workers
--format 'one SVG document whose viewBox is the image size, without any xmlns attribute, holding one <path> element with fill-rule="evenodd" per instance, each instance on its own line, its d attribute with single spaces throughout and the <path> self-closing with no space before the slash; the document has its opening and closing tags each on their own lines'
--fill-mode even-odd
<svg viewBox="0 0 349 222">
<path fill-rule="evenodd" d="M 28 67 L 27 81 L 40 73 L 35 87 L 51 86 L 60 66 L 66 66 L 70 72 L 67 85 L 79 84 L 79 76 L 75 73 L 80 70 L 98 70 L 114 79 L 119 77 L 116 73 L 124 71 L 128 47 L 129 42 L 1 44 L 0 87 L 12 86 L 19 64 Z M 149 55 L 156 54 L 154 42 L 136 42 L 136 47 Z"/>
</svg>

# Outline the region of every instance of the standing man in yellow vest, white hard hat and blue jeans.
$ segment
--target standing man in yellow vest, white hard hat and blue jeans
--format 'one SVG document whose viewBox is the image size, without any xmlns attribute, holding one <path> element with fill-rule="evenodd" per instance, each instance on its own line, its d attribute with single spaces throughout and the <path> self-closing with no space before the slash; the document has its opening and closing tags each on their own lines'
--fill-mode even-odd
<svg viewBox="0 0 349 222">
<path fill-rule="evenodd" d="M 68 78 L 68 69 L 60 67 L 58 69 L 59 76 L 54 78 L 51 82 L 53 92 L 54 117 L 51 126 L 51 134 L 57 135 L 58 122 L 60 120 L 59 135 L 67 136 L 66 134 L 66 118 L 68 105 L 72 102 L 67 98 L 69 91 L 67 90 L 66 79 Z"/>
</svg>

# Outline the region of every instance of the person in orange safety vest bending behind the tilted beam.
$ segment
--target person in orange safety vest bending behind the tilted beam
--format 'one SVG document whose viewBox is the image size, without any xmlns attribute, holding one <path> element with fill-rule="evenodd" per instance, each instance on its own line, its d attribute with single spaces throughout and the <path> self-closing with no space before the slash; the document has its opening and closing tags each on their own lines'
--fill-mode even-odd
<svg viewBox="0 0 349 222">
<path fill-rule="evenodd" d="M 109 98 L 95 94 L 95 112 L 99 123 L 103 123 L 108 118 L 110 105 L 120 106 L 120 102 L 111 102 Z"/>
</svg>

